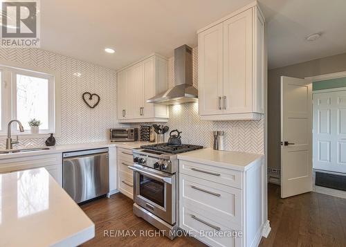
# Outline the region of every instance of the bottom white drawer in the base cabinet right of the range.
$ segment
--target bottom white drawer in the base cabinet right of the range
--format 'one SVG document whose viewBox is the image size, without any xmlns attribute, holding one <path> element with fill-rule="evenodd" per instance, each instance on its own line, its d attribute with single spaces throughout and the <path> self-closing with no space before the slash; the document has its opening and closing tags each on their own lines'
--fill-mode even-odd
<svg viewBox="0 0 346 247">
<path fill-rule="evenodd" d="M 233 231 L 239 232 L 241 229 L 233 225 L 228 228 L 223 223 L 215 221 L 215 217 L 208 212 L 191 210 L 182 207 L 180 212 L 180 228 L 190 232 L 194 237 L 209 246 L 242 246 L 242 237 L 230 237 Z"/>
</svg>

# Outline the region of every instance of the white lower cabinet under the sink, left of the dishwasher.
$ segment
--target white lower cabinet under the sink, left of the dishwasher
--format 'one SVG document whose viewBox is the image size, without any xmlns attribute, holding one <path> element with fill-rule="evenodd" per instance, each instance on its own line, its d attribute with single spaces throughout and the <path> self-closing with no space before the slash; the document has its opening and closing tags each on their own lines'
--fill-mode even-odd
<svg viewBox="0 0 346 247">
<path fill-rule="evenodd" d="M 0 160 L 0 173 L 17 172 L 44 167 L 62 186 L 62 154 L 44 154 L 21 158 L 4 158 Z"/>
</svg>

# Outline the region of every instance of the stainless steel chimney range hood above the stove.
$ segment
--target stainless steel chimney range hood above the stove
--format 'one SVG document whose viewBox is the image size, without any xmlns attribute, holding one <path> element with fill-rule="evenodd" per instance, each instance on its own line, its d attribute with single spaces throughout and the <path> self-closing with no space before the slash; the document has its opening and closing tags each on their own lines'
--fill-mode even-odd
<svg viewBox="0 0 346 247">
<path fill-rule="evenodd" d="M 175 86 L 163 91 L 148 103 L 183 104 L 198 101 L 198 91 L 192 86 L 192 48 L 187 45 L 174 50 L 174 84 Z"/>
</svg>

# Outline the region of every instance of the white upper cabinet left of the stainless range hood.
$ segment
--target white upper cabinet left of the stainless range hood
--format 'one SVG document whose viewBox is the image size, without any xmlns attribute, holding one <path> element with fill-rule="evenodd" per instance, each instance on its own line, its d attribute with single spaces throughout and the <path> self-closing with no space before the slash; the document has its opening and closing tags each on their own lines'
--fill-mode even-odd
<svg viewBox="0 0 346 247">
<path fill-rule="evenodd" d="M 118 72 L 119 122 L 167 122 L 167 105 L 147 99 L 167 90 L 167 59 L 151 55 Z"/>
</svg>

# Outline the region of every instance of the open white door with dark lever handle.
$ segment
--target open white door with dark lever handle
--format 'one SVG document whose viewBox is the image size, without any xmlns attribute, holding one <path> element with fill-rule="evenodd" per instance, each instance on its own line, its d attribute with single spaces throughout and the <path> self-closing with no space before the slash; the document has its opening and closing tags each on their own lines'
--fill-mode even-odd
<svg viewBox="0 0 346 247">
<path fill-rule="evenodd" d="M 281 197 L 312 190 L 312 84 L 281 77 Z"/>
</svg>

